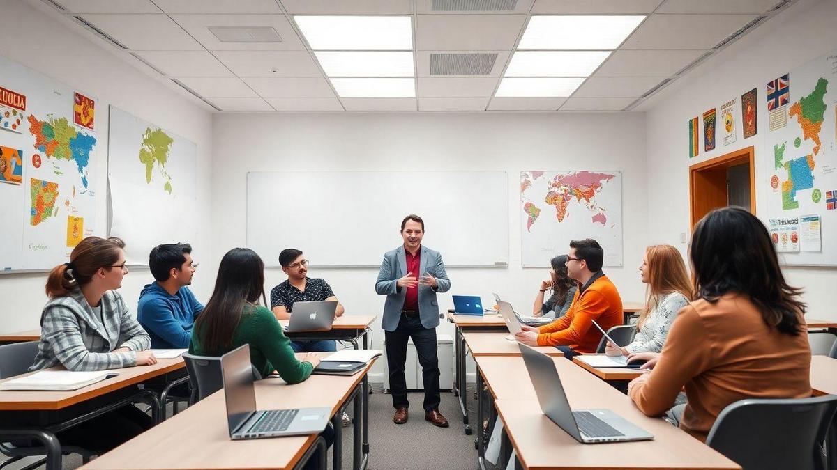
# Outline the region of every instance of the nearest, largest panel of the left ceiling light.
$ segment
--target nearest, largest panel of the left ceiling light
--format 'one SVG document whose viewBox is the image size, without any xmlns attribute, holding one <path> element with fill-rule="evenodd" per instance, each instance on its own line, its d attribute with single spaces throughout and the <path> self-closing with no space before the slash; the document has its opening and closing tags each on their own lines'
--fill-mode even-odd
<svg viewBox="0 0 837 470">
<path fill-rule="evenodd" d="M 313 50 L 413 50 L 410 17 L 295 16 Z"/>
</svg>

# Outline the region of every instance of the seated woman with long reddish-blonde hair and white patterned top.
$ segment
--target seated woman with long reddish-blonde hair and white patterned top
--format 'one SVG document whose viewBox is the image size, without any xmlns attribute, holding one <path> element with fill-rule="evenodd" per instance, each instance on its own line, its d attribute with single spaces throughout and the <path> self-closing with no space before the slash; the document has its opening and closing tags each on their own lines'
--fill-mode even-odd
<svg viewBox="0 0 837 470">
<path fill-rule="evenodd" d="M 677 248 L 671 245 L 646 248 L 639 273 L 642 282 L 648 284 L 648 300 L 636 322 L 636 336 L 624 347 L 608 341 L 604 350 L 607 355 L 660 352 L 665 345 L 665 337 L 669 335 L 671 322 L 691 300 L 686 263 L 683 263 Z"/>
</svg>

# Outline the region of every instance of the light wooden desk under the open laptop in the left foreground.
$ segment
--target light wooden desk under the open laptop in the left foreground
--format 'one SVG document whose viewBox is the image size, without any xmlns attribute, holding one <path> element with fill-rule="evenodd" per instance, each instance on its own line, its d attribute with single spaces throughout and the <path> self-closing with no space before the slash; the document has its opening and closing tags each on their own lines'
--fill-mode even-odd
<svg viewBox="0 0 837 470">
<path fill-rule="evenodd" d="M 292 386 L 281 379 L 256 381 L 257 408 L 329 406 L 333 416 L 352 391 L 366 382 L 373 362 L 355 375 L 311 375 L 308 380 Z M 361 395 L 367 395 L 365 386 Z M 83 468 L 293 468 L 315 439 L 316 435 L 230 440 L 221 390 Z"/>
</svg>

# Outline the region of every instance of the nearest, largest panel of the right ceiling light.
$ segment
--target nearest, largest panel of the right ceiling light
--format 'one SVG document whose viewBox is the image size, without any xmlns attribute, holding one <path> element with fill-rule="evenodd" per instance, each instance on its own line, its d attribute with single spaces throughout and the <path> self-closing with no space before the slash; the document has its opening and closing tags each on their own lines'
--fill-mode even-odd
<svg viewBox="0 0 837 470">
<path fill-rule="evenodd" d="M 616 49 L 644 16 L 533 16 L 517 49 Z"/>
</svg>

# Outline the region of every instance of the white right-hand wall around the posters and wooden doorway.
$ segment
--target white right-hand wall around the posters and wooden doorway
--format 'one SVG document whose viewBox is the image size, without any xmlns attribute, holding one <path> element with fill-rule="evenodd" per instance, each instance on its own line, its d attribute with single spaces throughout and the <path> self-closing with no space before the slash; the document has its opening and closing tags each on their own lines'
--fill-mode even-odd
<svg viewBox="0 0 837 470">
<path fill-rule="evenodd" d="M 700 155 L 690 160 L 687 121 L 732 97 L 740 100 L 755 87 L 761 102 L 769 80 L 837 48 L 834 24 L 837 2 L 802 0 L 693 70 L 689 78 L 661 92 L 646 121 L 650 243 L 671 243 L 685 251 L 686 245 L 679 242 L 680 233 L 689 232 L 690 165 L 747 146 L 755 147 L 757 160 L 771 151 L 763 140 L 768 115 L 759 112 L 757 135 L 742 140 L 739 130 L 735 144 L 725 147 L 719 143 L 710 152 L 701 147 Z M 757 165 L 757 177 L 762 177 L 763 170 Z M 756 202 L 757 213 L 766 212 L 766 198 L 758 192 Z M 805 289 L 809 317 L 837 319 L 829 290 L 837 283 L 837 268 L 784 268 L 784 273 L 791 284 Z"/>
</svg>

